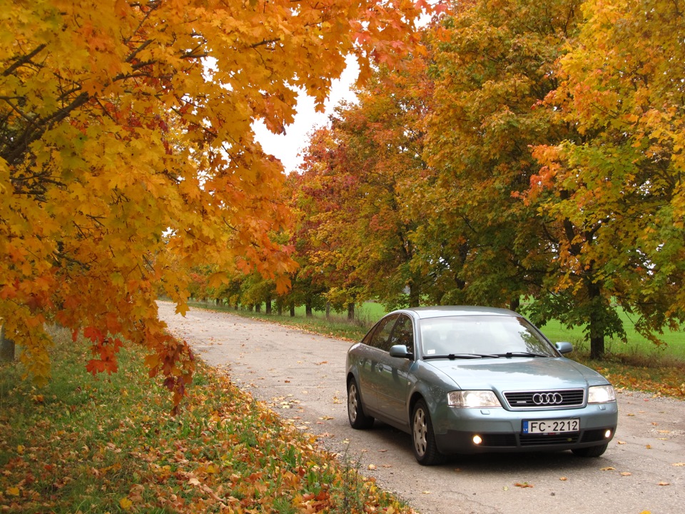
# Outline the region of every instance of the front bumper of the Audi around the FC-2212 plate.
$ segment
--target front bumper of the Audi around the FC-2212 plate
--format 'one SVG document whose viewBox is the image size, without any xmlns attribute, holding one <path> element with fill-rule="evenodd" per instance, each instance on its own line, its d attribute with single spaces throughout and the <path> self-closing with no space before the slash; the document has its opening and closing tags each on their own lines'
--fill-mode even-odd
<svg viewBox="0 0 685 514">
<path fill-rule="evenodd" d="M 578 432 L 524 434 L 524 420 L 579 418 Z M 450 408 L 437 413 L 433 428 L 441 453 L 489 453 L 572 450 L 609 443 L 618 420 L 617 403 L 559 410 Z M 437 421 L 437 423 L 436 423 Z M 609 437 L 607 437 L 609 430 Z M 475 444 L 479 435 L 482 442 Z"/>
</svg>

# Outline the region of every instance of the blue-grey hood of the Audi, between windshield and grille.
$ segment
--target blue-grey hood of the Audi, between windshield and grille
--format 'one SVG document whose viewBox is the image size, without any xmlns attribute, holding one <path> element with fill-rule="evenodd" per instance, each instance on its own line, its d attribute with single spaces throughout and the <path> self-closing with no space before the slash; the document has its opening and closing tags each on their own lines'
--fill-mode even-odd
<svg viewBox="0 0 685 514">
<path fill-rule="evenodd" d="M 564 389 L 607 383 L 596 371 L 567 358 L 484 358 L 425 363 L 452 378 L 461 389 Z"/>
</svg>

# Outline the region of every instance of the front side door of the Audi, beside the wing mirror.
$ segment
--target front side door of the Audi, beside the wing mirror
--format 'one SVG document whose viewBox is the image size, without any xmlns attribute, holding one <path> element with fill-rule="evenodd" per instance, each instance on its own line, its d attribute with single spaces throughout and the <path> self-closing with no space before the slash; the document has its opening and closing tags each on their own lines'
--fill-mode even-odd
<svg viewBox="0 0 685 514">
<path fill-rule="evenodd" d="M 405 345 L 410 353 L 414 351 L 414 323 L 412 318 L 401 314 L 392 328 L 385 348 L 379 354 L 375 368 L 377 408 L 395 423 L 405 425 L 407 418 L 407 392 L 410 388 L 409 373 L 414 358 L 390 356 L 390 348 Z"/>
</svg>

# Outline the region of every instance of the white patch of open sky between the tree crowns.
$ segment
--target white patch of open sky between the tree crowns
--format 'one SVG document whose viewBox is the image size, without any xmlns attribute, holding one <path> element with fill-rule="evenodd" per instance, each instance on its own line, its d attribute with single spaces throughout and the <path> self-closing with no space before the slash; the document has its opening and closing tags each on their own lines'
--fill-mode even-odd
<svg viewBox="0 0 685 514">
<path fill-rule="evenodd" d="M 266 153 L 279 158 L 285 168 L 285 173 L 297 171 L 303 159 L 298 155 L 308 144 L 309 135 L 320 126 L 328 124 L 328 116 L 341 101 L 356 101 L 357 97 L 350 89 L 359 75 L 359 66 L 354 57 L 348 57 L 347 68 L 340 79 L 333 81 L 328 101 L 325 103 L 325 113 L 314 110 L 314 99 L 300 93 L 298 96 L 298 114 L 295 121 L 285 127 L 284 134 L 274 134 L 268 131 L 262 121 L 253 125 L 257 141 Z"/>
</svg>

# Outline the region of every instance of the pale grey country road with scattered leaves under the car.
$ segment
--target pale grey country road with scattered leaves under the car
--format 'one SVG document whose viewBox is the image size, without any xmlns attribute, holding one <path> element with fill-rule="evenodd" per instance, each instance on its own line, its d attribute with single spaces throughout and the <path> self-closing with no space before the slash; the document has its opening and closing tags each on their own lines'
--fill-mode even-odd
<svg viewBox="0 0 685 514">
<path fill-rule="evenodd" d="M 597 459 L 570 452 L 455 457 L 426 468 L 410 436 L 376 422 L 347 423 L 348 341 L 226 313 L 176 315 L 160 303 L 169 331 L 210 366 L 358 463 L 385 490 L 422 514 L 685 512 L 685 402 L 619 391 L 619 427 Z M 685 380 L 685 378 L 684 378 Z M 523 487 L 522 487 L 523 486 Z"/>
</svg>

